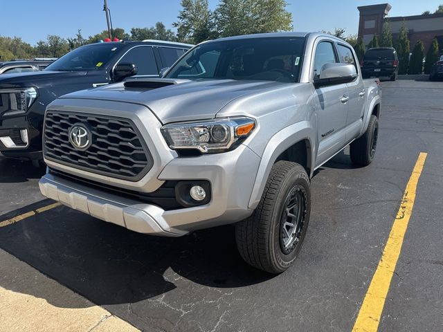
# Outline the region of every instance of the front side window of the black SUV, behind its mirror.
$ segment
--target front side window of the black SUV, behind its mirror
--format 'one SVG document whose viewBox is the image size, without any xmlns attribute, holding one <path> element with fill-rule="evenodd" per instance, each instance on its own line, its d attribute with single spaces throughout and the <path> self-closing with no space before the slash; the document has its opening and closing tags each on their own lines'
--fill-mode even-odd
<svg viewBox="0 0 443 332">
<path fill-rule="evenodd" d="M 151 46 L 131 48 L 118 62 L 119 64 L 135 64 L 137 75 L 159 75 L 159 69 Z"/>
</svg>

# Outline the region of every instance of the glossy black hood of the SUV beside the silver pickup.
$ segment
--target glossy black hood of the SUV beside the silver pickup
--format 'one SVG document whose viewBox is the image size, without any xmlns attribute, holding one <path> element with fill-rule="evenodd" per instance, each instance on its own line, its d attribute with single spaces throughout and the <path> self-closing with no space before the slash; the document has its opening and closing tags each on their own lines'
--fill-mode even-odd
<svg viewBox="0 0 443 332">
<path fill-rule="evenodd" d="M 44 84 L 44 82 L 58 80 L 64 77 L 84 76 L 87 71 L 30 71 L 28 73 L 2 74 L 0 75 L 0 86 L 2 88 L 14 88 Z"/>
</svg>

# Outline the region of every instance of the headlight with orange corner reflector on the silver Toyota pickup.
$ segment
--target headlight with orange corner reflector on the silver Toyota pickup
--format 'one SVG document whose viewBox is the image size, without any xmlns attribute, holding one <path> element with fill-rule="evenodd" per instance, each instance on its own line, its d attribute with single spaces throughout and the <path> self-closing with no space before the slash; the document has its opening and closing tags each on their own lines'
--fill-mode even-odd
<svg viewBox="0 0 443 332">
<path fill-rule="evenodd" d="M 255 128 L 251 118 L 217 119 L 166 124 L 161 132 L 171 149 L 197 149 L 202 154 L 236 147 Z"/>
</svg>

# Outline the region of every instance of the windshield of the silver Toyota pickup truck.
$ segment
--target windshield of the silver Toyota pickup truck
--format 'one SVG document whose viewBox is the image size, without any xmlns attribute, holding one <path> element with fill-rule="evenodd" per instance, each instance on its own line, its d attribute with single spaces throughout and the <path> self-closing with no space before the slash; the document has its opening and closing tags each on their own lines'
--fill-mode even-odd
<svg viewBox="0 0 443 332">
<path fill-rule="evenodd" d="M 208 42 L 184 55 L 165 78 L 298 82 L 304 37 Z"/>
</svg>

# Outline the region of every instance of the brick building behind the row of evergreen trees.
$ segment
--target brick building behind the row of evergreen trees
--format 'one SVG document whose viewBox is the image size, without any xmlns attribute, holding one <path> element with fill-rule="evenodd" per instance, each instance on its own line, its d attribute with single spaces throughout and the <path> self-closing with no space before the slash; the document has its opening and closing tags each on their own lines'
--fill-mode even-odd
<svg viewBox="0 0 443 332">
<path fill-rule="evenodd" d="M 374 34 L 378 37 L 381 36 L 383 22 L 388 20 L 393 40 L 399 37 L 399 30 L 405 22 L 409 30 L 411 50 L 418 40 L 422 40 L 426 53 L 432 40 L 436 37 L 440 53 L 443 53 L 443 14 L 387 17 L 390 8 L 389 3 L 358 7 L 360 12 L 359 38 L 363 38 L 365 46 L 368 46 Z"/>
</svg>

